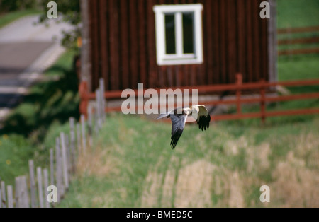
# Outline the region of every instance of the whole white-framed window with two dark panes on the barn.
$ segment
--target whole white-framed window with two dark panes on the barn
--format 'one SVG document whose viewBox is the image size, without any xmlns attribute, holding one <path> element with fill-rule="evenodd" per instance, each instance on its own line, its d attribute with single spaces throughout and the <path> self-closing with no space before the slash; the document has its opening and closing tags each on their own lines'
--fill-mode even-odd
<svg viewBox="0 0 319 222">
<path fill-rule="evenodd" d="M 158 65 L 203 63 L 202 4 L 154 6 Z"/>
</svg>

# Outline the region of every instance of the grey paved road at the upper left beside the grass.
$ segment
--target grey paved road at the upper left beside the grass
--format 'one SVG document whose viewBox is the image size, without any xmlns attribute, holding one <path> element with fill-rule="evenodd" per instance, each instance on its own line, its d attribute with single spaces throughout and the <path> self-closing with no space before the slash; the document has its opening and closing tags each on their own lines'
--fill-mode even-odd
<svg viewBox="0 0 319 222">
<path fill-rule="evenodd" d="M 0 122 L 65 51 L 59 42 L 69 25 L 52 20 L 46 27 L 37 21 L 38 16 L 28 16 L 0 30 Z"/>
</svg>

